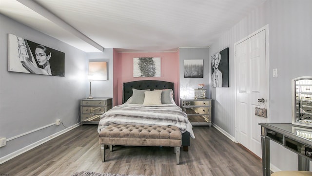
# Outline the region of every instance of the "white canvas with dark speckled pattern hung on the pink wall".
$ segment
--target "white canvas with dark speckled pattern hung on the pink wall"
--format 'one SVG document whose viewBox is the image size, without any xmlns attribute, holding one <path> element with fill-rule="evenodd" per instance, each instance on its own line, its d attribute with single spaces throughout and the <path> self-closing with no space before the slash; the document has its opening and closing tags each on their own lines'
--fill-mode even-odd
<svg viewBox="0 0 312 176">
<path fill-rule="evenodd" d="M 160 77 L 160 57 L 133 58 L 133 77 Z"/>
</svg>

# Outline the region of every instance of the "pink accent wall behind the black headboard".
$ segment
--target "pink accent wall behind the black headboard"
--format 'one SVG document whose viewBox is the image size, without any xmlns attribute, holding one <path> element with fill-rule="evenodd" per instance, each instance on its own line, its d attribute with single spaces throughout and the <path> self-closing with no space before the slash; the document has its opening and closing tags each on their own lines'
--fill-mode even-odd
<svg viewBox="0 0 312 176">
<path fill-rule="evenodd" d="M 116 54 L 116 55 L 115 55 Z M 133 77 L 133 58 L 160 57 L 161 77 Z M 178 105 L 178 52 L 117 53 L 114 52 L 114 106 L 122 104 L 122 83 L 138 80 L 161 80 L 175 83 L 175 102 Z M 116 92 L 117 91 L 117 95 Z M 116 97 L 117 96 L 117 97 Z"/>
</svg>

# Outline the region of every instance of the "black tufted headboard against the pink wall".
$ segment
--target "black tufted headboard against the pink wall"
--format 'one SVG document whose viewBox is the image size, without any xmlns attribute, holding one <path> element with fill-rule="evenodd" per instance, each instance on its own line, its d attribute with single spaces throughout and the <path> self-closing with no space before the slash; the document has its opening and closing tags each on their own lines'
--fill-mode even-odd
<svg viewBox="0 0 312 176">
<path fill-rule="evenodd" d="M 172 89 L 173 98 L 175 99 L 175 87 L 174 83 L 167 81 L 157 81 L 157 80 L 141 80 L 132 81 L 122 84 L 122 104 L 125 103 L 132 96 L 132 88 L 136 89 Z"/>
</svg>

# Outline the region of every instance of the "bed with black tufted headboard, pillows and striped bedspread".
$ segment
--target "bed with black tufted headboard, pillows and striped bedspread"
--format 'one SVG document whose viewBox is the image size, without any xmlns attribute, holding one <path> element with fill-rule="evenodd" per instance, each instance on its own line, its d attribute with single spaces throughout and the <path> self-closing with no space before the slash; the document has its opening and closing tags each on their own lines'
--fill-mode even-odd
<svg viewBox="0 0 312 176">
<path fill-rule="evenodd" d="M 153 104 L 155 98 L 153 99 L 153 105 L 149 105 L 148 101 L 147 104 L 145 104 L 148 96 L 144 97 L 143 95 L 142 97 L 142 93 L 147 90 L 149 91 L 146 92 L 145 95 L 152 94 L 151 97 L 154 96 L 153 94 L 157 94 L 158 96 L 159 91 L 161 91 L 161 96 L 166 94 L 165 98 L 161 97 L 161 105 Z M 171 102 L 169 102 L 168 99 L 168 92 L 169 95 L 171 95 Z M 182 133 L 183 150 L 188 151 L 188 147 L 190 146 L 190 137 L 195 138 L 195 135 L 192 130 L 192 125 L 187 119 L 187 115 L 181 110 L 180 107 L 176 105 L 174 102 L 174 97 L 174 83 L 172 82 L 143 80 L 123 83 L 122 105 L 115 106 L 113 109 L 107 111 L 101 116 L 101 120 L 98 125 L 98 132 L 111 124 L 176 126 Z M 159 99 L 157 100 L 159 101 Z M 143 103 L 145 104 L 143 106 L 142 101 L 144 101 Z M 126 115 L 120 114 L 119 111 L 121 110 L 125 110 Z M 118 113 L 115 114 L 114 111 L 118 111 Z M 155 115 L 155 113 L 157 115 Z M 179 117 L 168 117 L 167 119 L 165 115 L 170 113 L 172 113 L 171 116 L 178 114 Z M 160 117 L 158 117 L 159 115 Z M 144 118 L 144 122 L 141 121 L 142 118 Z"/>
</svg>

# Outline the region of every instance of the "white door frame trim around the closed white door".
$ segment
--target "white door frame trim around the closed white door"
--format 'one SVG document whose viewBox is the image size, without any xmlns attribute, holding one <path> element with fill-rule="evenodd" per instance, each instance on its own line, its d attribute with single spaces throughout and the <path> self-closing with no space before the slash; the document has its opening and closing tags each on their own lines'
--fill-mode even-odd
<svg viewBox="0 0 312 176">
<path fill-rule="evenodd" d="M 236 45 L 239 43 L 242 43 L 243 41 L 251 38 L 255 34 L 265 31 L 265 58 L 266 58 L 266 109 L 267 109 L 267 120 L 270 122 L 270 59 L 269 59 L 269 24 L 261 27 L 260 29 L 254 31 L 253 33 L 249 34 L 247 37 L 244 37 L 243 39 L 239 40 L 238 42 L 234 43 L 234 91 L 235 91 L 235 106 L 234 106 L 234 113 L 235 113 L 235 142 L 237 141 L 237 126 L 238 126 L 238 119 L 236 116 L 237 107 L 236 107 L 236 100 L 237 100 L 237 93 L 236 93 Z M 260 131 L 259 131 L 260 132 Z"/>
</svg>

